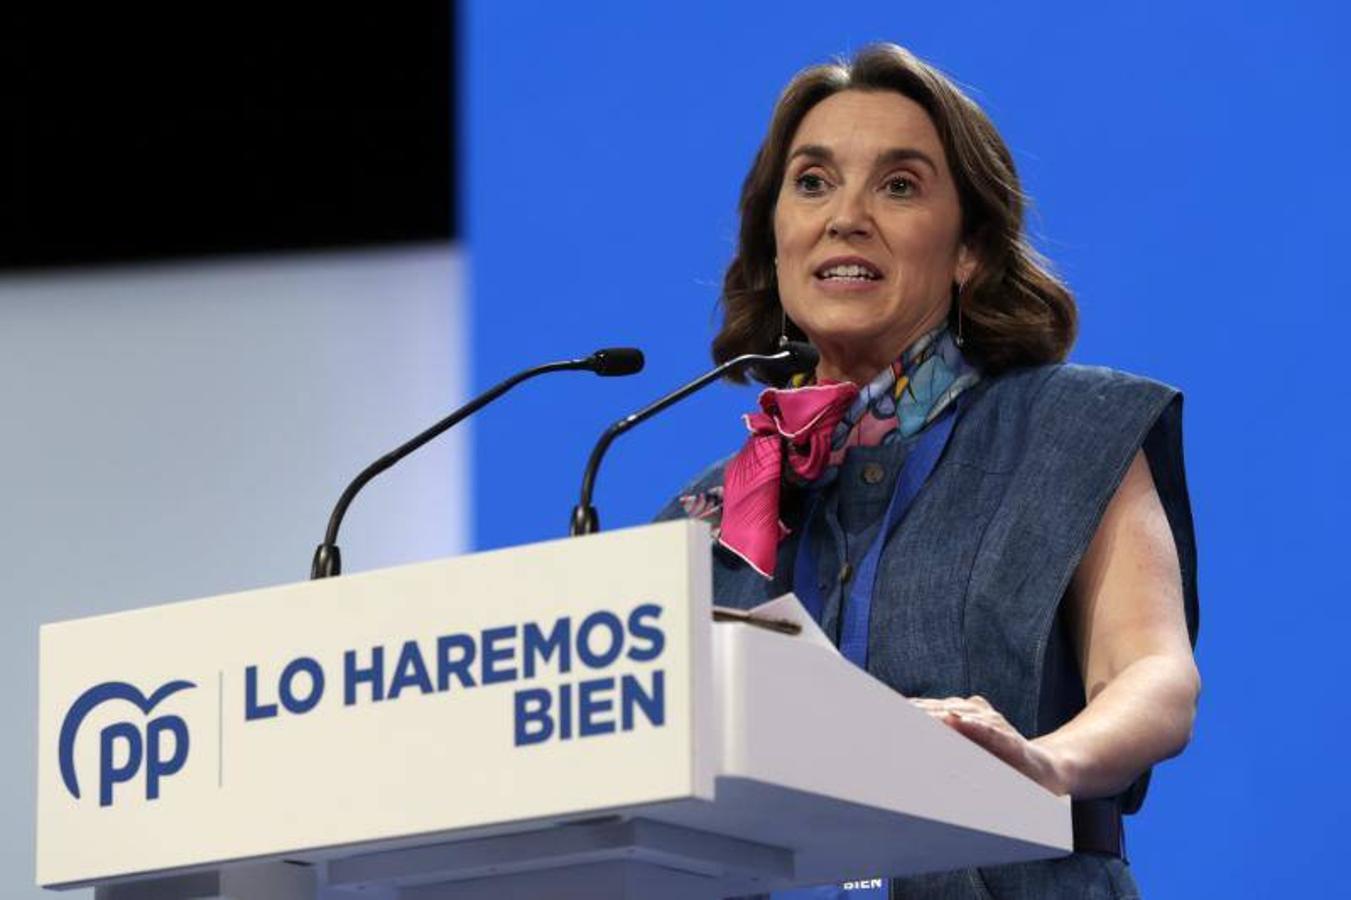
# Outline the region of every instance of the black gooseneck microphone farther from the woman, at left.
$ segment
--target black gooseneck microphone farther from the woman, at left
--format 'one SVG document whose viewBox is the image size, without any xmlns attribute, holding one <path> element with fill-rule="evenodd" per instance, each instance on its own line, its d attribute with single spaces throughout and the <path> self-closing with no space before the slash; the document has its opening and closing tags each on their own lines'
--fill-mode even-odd
<svg viewBox="0 0 1351 900">
<path fill-rule="evenodd" d="M 449 416 L 427 428 L 411 441 L 394 447 L 385 455 L 380 457 L 369 466 L 361 470 L 361 473 L 351 480 L 347 489 L 342 492 L 338 497 L 338 504 L 334 507 L 332 515 L 328 516 L 328 530 L 324 532 L 324 542 L 315 549 L 315 558 L 309 565 L 309 577 L 313 578 L 327 578 L 330 576 L 342 573 L 342 554 L 338 551 L 338 528 L 342 526 L 342 519 L 347 514 L 347 507 L 351 505 L 353 499 L 357 493 L 370 482 L 372 478 L 378 476 L 385 469 L 389 469 L 396 462 L 409 455 L 423 445 L 428 443 L 434 438 L 440 436 L 451 427 L 454 427 L 462 419 L 478 412 L 489 403 L 503 396 L 512 388 L 515 388 L 521 381 L 534 378 L 535 376 L 544 374 L 547 372 L 594 372 L 598 376 L 613 377 L 613 376 L 630 376 L 643 370 L 643 351 L 636 347 L 605 347 L 604 350 L 597 350 L 596 353 L 585 357 L 582 359 L 565 359 L 561 362 L 546 362 L 542 366 L 535 366 L 534 369 L 526 369 L 524 372 L 517 372 L 505 381 L 493 385 L 484 393 L 478 395 L 461 408 L 451 412 Z"/>
</svg>

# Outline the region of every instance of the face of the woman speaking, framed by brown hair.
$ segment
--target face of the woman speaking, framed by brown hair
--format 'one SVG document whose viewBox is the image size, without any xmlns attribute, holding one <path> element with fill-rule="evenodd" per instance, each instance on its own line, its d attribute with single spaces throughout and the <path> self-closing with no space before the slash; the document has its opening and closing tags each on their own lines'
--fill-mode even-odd
<svg viewBox="0 0 1351 900">
<path fill-rule="evenodd" d="M 928 114 L 843 91 L 802 119 L 774 207 L 778 295 L 821 351 L 820 378 L 869 381 L 947 315 L 975 268 Z"/>
</svg>

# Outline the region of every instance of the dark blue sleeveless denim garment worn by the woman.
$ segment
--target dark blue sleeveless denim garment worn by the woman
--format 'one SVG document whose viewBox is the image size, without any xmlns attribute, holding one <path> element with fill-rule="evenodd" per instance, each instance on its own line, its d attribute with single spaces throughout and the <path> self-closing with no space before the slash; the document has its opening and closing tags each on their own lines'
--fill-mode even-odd
<svg viewBox="0 0 1351 900">
<path fill-rule="evenodd" d="M 1144 450 L 1173 530 L 1188 627 L 1197 630 L 1196 541 L 1182 468 L 1181 395 L 1109 369 L 1016 369 L 970 389 L 942 459 L 882 550 L 867 669 L 911 697 L 985 696 L 1028 736 L 1085 705 L 1061 599 L 1108 501 Z M 713 549 L 713 600 L 753 607 L 792 589 L 798 541 L 816 554 L 823 627 L 838 628 L 846 584 L 877 531 L 909 442 L 855 447 L 800 534 L 804 497 L 785 491 L 773 581 Z M 682 493 L 721 484 L 724 462 Z M 658 519 L 684 515 L 671 501 Z M 1116 799 L 1139 809 L 1148 773 Z M 871 873 L 886 874 L 886 873 Z M 1061 859 L 893 880 L 892 897 L 924 900 L 1138 896 L 1125 862 Z"/>
</svg>

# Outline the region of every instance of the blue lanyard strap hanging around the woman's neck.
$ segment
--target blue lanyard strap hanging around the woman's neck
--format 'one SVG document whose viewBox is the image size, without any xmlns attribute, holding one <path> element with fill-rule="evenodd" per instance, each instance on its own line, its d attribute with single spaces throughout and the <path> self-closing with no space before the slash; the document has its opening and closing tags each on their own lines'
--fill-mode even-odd
<svg viewBox="0 0 1351 900">
<path fill-rule="evenodd" d="M 962 405 L 965 405 L 962 399 L 958 399 L 936 422 L 920 432 L 919 439 L 911 447 L 905 462 L 901 465 L 901 474 L 896 480 L 896 489 L 892 492 L 892 500 L 886 505 L 886 518 L 882 520 L 882 527 L 878 528 L 877 535 L 867 547 L 867 553 L 863 554 L 863 561 L 858 566 L 858 574 L 854 577 L 852 588 L 848 593 L 848 603 L 844 604 L 843 609 L 839 647 L 844 658 L 861 669 L 867 668 L 867 628 L 873 615 L 873 592 L 877 586 L 877 568 L 882 558 L 882 547 L 905 518 L 905 514 L 909 512 L 915 497 L 919 496 L 924 482 L 928 481 L 929 474 L 932 474 L 934 468 L 938 465 L 939 457 L 943 455 L 947 441 L 952 435 L 957 414 Z M 802 524 L 798 530 L 797 554 L 793 559 L 793 592 L 817 622 L 821 620 L 825 607 L 821 586 L 816 578 L 816 554 L 812 553 L 811 541 L 812 519 L 816 516 L 819 501 L 820 493 L 816 493 L 808 503 L 807 515 L 802 516 Z"/>
</svg>

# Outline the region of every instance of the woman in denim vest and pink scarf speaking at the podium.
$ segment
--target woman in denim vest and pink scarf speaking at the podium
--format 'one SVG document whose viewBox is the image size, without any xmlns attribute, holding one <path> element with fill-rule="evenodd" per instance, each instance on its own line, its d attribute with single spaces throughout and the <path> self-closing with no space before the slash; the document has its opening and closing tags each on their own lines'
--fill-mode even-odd
<svg viewBox="0 0 1351 900">
<path fill-rule="evenodd" d="M 796 592 L 850 659 L 1073 797 L 1073 855 L 892 897 L 1136 896 L 1121 816 L 1196 714 L 1181 396 L 1063 362 L 1075 303 L 1023 205 L 989 118 L 904 49 L 794 77 L 713 357 L 807 339 L 820 365 L 661 516 L 713 524 L 716 603 Z"/>
</svg>

